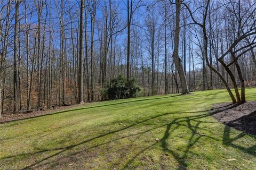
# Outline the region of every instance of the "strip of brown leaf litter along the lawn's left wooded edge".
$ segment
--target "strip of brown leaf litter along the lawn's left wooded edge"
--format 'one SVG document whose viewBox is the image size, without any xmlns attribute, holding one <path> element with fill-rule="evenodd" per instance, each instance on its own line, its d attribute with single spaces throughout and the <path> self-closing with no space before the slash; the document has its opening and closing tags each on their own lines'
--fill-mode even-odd
<svg viewBox="0 0 256 170">
<path fill-rule="evenodd" d="M 54 114 L 58 112 L 63 112 L 63 111 L 68 111 L 72 108 L 76 108 L 79 106 L 84 106 L 87 105 L 88 103 L 85 104 L 79 104 L 79 105 L 71 105 L 71 106 L 65 106 L 65 107 L 57 107 L 54 109 L 48 109 L 45 111 L 34 111 L 34 112 L 19 112 L 19 113 L 4 113 L 2 114 L 2 119 L 0 118 L 0 123 L 7 123 L 7 122 L 13 122 L 13 121 L 18 121 L 18 120 L 23 120 L 26 118 L 31 118 L 31 117 L 39 117 L 43 115 L 49 115 L 49 114 Z"/>
</svg>

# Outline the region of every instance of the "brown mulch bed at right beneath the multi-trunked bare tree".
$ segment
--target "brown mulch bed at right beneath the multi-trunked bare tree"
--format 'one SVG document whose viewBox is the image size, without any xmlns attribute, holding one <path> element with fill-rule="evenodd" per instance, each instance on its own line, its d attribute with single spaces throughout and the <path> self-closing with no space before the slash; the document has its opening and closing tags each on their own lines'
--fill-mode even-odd
<svg viewBox="0 0 256 170">
<path fill-rule="evenodd" d="M 210 113 L 223 124 L 256 135 L 256 101 L 248 101 L 241 105 L 231 103 L 214 105 Z"/>
</svg>

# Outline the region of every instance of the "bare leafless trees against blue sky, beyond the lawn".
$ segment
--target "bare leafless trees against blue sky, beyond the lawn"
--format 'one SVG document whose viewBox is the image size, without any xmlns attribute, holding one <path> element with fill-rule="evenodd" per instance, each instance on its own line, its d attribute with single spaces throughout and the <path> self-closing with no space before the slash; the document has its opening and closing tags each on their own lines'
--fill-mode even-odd
<svg viewBox="0 0 256 170">
<path fill-rule="evenodd" d="M 254 0 L 2 0 L 0 39 L 0 116 L 103 100 L 119 75 L 140 96 L 255 86 Z"/>
</svg>

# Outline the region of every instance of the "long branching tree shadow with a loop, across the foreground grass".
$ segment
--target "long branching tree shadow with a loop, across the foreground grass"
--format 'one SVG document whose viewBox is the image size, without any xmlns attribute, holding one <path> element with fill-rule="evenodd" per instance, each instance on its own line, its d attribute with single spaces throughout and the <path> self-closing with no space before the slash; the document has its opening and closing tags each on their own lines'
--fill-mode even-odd
<svg viewBox="0 0 256 170">
<path fill-rule="evenodd" d="M 200 112 L 209 112 L 209 111 L 165 113 L 165 114 L 161 114 L 161 115 L 157 115 L 157 116 L 146 118 L 143 121 L 133 123 L 133 124 L 128 125 L 128 126 L 122 128 L 122 129 L 117 129 L 117 130 L 114 130 L 114 131 L 110 131 L 108 133 L 100 134 L 97 137 L 94 137 L 94 138 L 91 138 L 91 139 L 87 139 L 85 141 L 81 141 L 81 142 L 76 143 L 74 145 L 69 145 L 69 146 L 66 146 L 66 147 L 60 147 L 60 148 L 54 148 L 54 149 L 43 149 L 43 150 L 39 150 L 37 152 L 20 154 L 20 155 L 5 157 L 5 158 L 2 158 L 2 159 L 14 158 L 14 157 L 18 157 L 18 156 L 31 156 L 31 155 L 41 154 L 43 152 L 48 152 L 48 151 L 57 151 L 55 154 L 52 154 L 50 156 L 46 156 L 45 158 L 43 158 L 41 160 L 38 160 L 37 162 L 35 162 L 33 164 L 30 164 L 30 165 L 28 165 L 27 167 L 25 167 L 23 169 L 30 169 L 30 168 L 34 168 L 34 167 L 40 167 L 40 166 L 43 166 L 43 165 L 47 165 L 47 164 L 53 163 L 54 161 L 51 160 L 51 159 L 53 159 L 53 157 L 61 156 L 61 154 L 63 152 L 69 151 L 69 150 L 71 150 L 71 149 L 73 149 L 73 148 L 75 148 L 77 146 L 82 146 L 82 145 L 84 145 L 84 144 L 86 144 L 88 142 L 91 142 L 91 141 L 95 140 L 95 139 L 99 139 L 99 138 L 105 137 L 106 135 L 114 134 L 114 133 L 117 133 L 117 132 L 129 129 L 129 128 L 135 126 L 135 125 L 141 124 L 143 122 L 147 122 L 149 120 L 153 120 L 153 119 L 155 119 L 157 117 L 161 117 L 161 116 L 165 116 L 165 115 L 170 115 L 170 114 L 200 113 Z M 211 113 L 211 114 L 214 114 L 214 113 Z M 163 148 L 163 150 L 165 152 L 168 152 L 169 154 L 171 154 L 174 157 L 175 160 L 177 160 L 177 162 L 179 163 L 179 168 L 180 169 L 186 169 L 187 168 L 186 156 L 187 156 L 187 153 L 189 152 L 189 149 L 191 147 L 193 147 L 195 145 L 195 143 L 199 139 L 201 139 L 201 138 L 211 138 L 211 139 L 214 139 L 213 137 L 210 137 L 208 135 L 201 134 L 201 133 L 197 132 L 198 126 L 201 123 L 216 123 L 216 122 L 204 122 L 204 121 L 200 120 L 201 118 L 207 117 L 207 116 L 209 116 L 211 114 L 205 113 L 205 114 L 200 114 L 200 115 L 193 115 L 193 116 L 185 116 L 185 117 L 175 118 L 171 123 L 166 123 L 166 124 L 163 124 L 161 126 L 157 126 L 155 128 L 151 128 L 151 129 L 148 129 L 148 130 L 140 132 L 140 133 L 129 134 L 129 135 L 126 135 L 126 136 L 121 137 L 121 138 L 117 138 L 117 139 L 114 139 L 114 140 L 109 140 L 107 142 L 100 143 L 99 145 L 94 145 L 94 146 L 86 148 L 84 150 L 79 150 L 77 152 L 74 152 L 74 154 L 72 154 L 72 155 L 75 155 L 75 154 L 77 154 L 79 152 L 82 152 L 82 151 L 86 151 L 87 149 L 90 149 L 90 148 L 95 148 L 95 147 L 99 147 L 99 146 L 102 146 L 102 145 L 106 145 L 107 143 L 110 143 L 110 142 L 113 142 L 113 141 L 117 141 L 117 140 L 120 140 L 120 139 L 124 139 L 124 138 L 129 138 L 129 137 L 132 137 L 134 135 L 141 135 L 141 134 L 147 133 L 149 131 L 152 131 L 154 129 L 166 126 L 166 130 L 164 132 L 163 138 L 161 140 L 159 140 L 159 142 L 153 143 L 153 145 L 151 145 L 151 146 L 141 150 L 138 154 L 136 154 L 132 159 L 130 159 L 127 162 L 127 164 L 124 166 L 124 169 L 127 168 L 129 166 L 129 164 L 131 164 L 142 152 L 145 152 L 146 150 L 153 148 L 158 143 L 161 144 L 161 146 L 162 146 L 162 148 Z M 196 123 L 196 125 L 194 125 L 194 126 L 191 125 L 191 121 Z M 174 128 L 172 129 L 173 126 L 174 126 Z M 168 145 L 167 145 L 167 139 L 169 139 L 171 133 L 174 130 L 178 129 L 180 126 L 186 126 L 191 131 L 191 136 L 189 138 L 188 145 L 186 146 L 186 149 L 185 149 L 185 151 L 183 152 L 182 155 L 180 155 L 178 152 L 176 152 L 172 148 L 168 147 Z M 63 157 L 71 157 L 72 155 L 68 154 L 67 156 L 61 156 L 61 158 L 58 158 L 57 160 L 62 159 Z M 48 162 L 46 162 L 46 161 L 48 161 Z M 46 162 L 46 163 L 42 164 L 43 162 Z"/>
</svg>

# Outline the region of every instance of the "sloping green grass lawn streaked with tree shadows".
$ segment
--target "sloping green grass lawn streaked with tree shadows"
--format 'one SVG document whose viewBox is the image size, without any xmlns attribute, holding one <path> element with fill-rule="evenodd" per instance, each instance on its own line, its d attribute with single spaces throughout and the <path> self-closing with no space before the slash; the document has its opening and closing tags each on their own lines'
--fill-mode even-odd
<svg viewBox="0 0 256 170">
<path fill-rule="evenodd" d="M 246 95 L 256 100 L 256 89 Z M 256 169 L 256 137 L 208 113 L 226 101 L 226 90 L 209 90 L 0 124 L 0 169 Z"/>
</svg>

